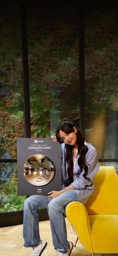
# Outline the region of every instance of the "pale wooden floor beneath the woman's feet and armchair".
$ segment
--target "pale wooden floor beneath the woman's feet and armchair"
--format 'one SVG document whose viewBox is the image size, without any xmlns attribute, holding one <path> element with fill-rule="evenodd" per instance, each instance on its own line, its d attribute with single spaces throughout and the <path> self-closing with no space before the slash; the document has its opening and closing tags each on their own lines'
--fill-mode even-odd
<svg viewBox="0 0 118 256">
<path fill-rule="evenodd" d="M 68 222 L 66 220 L 67 226 L 67 238 L 73 243 L 76 240 L 76 235 Z M 40 237 L 47 241 L 47 246 L 42 253 L 42 256 L 56 256 L 57 253 L 54 252 L 50 224 L 49 221 L 39 222 Z M 76 247 L 73 248 L 71 256 L 90 256 L 91 253 L 86 251 L 79 241 L 77 241 Z M 23 247 L 23 237 L 22 237 L 22 225 L 8 226 L 0 228 L 0 256 L 31 256 L 31 249 Z M 117 254 L 95 254 L 95 256 L 118 256 Z"/>
</svg>

